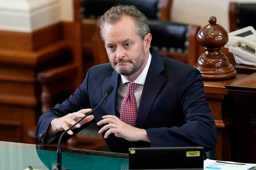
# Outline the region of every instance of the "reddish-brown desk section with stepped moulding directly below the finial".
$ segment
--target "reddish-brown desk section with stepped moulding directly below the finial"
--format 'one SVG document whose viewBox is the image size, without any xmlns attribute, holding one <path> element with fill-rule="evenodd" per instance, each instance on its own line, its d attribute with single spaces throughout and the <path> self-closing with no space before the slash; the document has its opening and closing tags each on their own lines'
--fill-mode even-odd
<svg viewBox="0 0 256 170">
<path fill-rule="evenodd" d="M 237 74 L 236 78 L 223 81 L 204 81 L 205 98 L 212 108 L 212 114 L 217 126 L 217 160 L 231 160 L 229 144 L 229 128 L 232 124 L 231 114 L 232 102 L 227 95 L 224 85 L 237 81 L 246 74 Z"/>
</svg>

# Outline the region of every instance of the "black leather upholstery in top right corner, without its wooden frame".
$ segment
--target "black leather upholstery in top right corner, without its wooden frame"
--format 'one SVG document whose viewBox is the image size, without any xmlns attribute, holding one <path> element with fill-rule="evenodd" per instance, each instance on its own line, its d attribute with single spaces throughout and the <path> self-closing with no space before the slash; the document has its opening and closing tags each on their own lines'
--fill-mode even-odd
<svg viewBox="0 0 256 170">
<path fill-rule="evenodd" d="M 256 29 L 256 3 L 237 3 L 237 29 L 252 26 Z"/>
</svg>

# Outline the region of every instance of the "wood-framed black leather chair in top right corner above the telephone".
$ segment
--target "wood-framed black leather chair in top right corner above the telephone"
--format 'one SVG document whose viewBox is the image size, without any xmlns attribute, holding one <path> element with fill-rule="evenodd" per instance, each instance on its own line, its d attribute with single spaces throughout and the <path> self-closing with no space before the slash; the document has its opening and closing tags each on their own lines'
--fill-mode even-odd
<svg viewBox="0 0 256 170">
<path fill-rule="evenodd" d="M 237 3 L 229 4 L 229 28 L 230 32 L 241 28 L 252 26 L 256 29 L 256 3 Z"/>
</svg>

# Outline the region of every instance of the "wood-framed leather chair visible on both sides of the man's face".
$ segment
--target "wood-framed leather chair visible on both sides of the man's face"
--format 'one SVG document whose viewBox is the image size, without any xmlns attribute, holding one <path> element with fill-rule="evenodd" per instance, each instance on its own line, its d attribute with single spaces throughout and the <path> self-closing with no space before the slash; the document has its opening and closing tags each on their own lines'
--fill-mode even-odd
<svg viewBox="0 0 256 170">
<path fill-rule="evenodd" d="M 164 22 L 159 20 L 149 20 L 149 29 L 152 34 L 151 45 L 158 49 L 166 57 L 183 61 L 189 65 L 194 65 L 199 57 L 199 44 L 196 35 L 200 26 L 188 25 L 174 22 Z M 98 18 L 95 28 L 97 38 L 95 41 L 94 56 L 98 64 L 109 62 L 104 47 L 104 42 L 100 37 L 100 18 Z"/>
</svg>

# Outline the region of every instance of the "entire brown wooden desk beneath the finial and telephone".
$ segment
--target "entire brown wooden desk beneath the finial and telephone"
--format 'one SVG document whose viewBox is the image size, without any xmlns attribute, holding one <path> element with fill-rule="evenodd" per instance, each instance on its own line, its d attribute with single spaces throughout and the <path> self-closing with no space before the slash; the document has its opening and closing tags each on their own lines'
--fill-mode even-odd
<svg viewBox="0 0 256 170">
<path fill-rule="evenodd" d="M 255 163 L 256 73 L 204 81 L 204 91 L 217 126 L 217 160 Z"/>
</svg>

